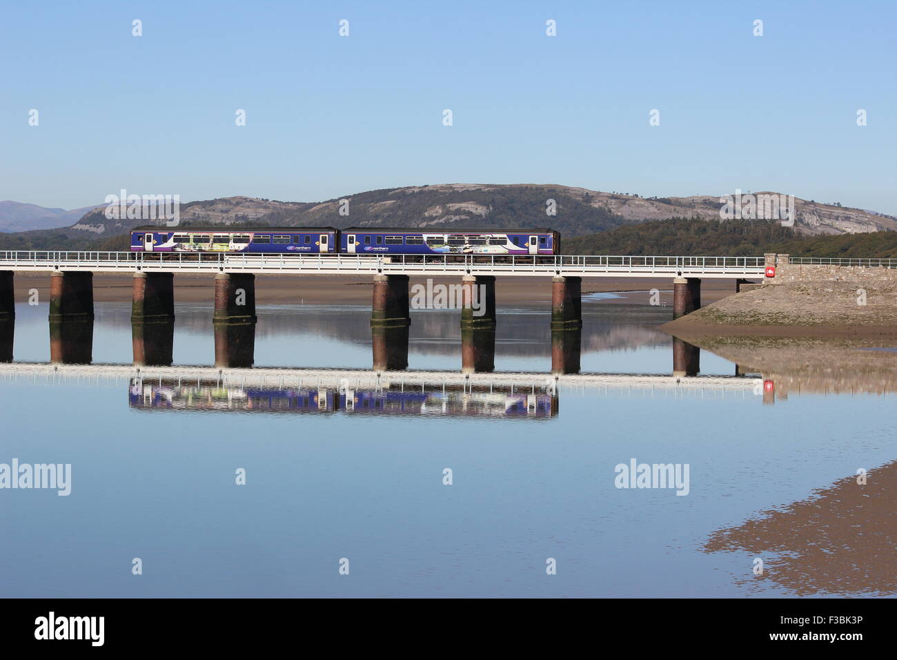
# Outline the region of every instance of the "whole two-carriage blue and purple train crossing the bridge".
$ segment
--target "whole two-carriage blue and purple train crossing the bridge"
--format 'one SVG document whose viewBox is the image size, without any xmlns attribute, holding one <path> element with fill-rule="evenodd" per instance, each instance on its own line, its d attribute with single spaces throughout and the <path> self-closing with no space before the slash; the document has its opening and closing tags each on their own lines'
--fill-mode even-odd
<svg viewBox="0 0 897 660">
<path fill-rule="evenodd" d="M 275 254 L 560 254 L 551 229 L 382 229 L 373 227 L 142 226 L 131 230 L 132 252 Z"/>
</svg>

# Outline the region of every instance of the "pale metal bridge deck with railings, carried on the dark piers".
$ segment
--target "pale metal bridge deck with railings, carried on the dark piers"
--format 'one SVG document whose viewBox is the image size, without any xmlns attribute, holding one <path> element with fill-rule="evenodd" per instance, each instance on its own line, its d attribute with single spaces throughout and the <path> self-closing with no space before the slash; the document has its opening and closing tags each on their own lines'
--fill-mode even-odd
<svg viewBox="0 0 897 660">
<path fill-rule="evenodd" d="M 0 251 L 0 270 L 511 277 L 763 277 L 763 257 Z"/>
</svg>

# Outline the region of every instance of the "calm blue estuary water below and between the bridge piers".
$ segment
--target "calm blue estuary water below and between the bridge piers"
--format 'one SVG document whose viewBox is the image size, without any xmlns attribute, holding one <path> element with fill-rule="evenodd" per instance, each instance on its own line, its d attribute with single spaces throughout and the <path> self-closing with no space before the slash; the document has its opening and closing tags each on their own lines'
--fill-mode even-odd
<svg viewBox="0 0 897 660">
<path fill-rule="evenodd" d="M 671 374 L 669 312 L 583 307 L 582 372 Z M 173 363 L 213 365 L 211 306 L 176 312 Z M 48 362 L 46 306 L 17 314 L 14 360 Z M 129 315 L 97 305 L 94 365 L 131 363 Z M 260 307 L 255 366 L 370 368 L 369 315 Z M 550 372 L 548 321 L 500 310 L 496 371 Z M 409 368 L 457 372 L 460 337 L 457 312 L 413 312 Z M 4 596 L 897 594 L 893 394 L 562 385 L 527 409 L 431 383 L 358 388 L 385 401 L 361 415 L 296 403 L 318 388 L 4 368 L 0 462 L 72 465 L 68 497 L 0 490 Z M 736 365 L 704 350 L 700 371 Z M 632 459 L 688 464 L 688 494 L 616 488 Z"/>
</svg>

